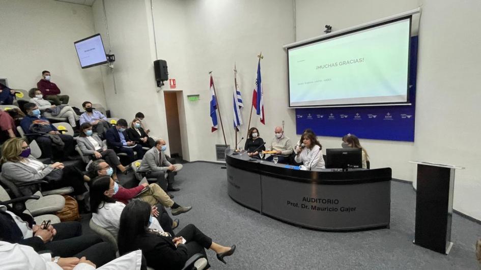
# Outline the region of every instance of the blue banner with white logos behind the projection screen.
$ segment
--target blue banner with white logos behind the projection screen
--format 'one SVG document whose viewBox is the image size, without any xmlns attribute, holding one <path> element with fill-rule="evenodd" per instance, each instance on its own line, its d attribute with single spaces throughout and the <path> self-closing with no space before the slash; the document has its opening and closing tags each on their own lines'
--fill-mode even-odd
<svg viewBox="0 0 481 270">
<path fill-rule="evenodd" d="M 417 36 L 411 38 L 409 101 L 412 105 L 296 109 L 296 133 L 313 129 L 318 136 L 414 141 Z"/>
</svg>

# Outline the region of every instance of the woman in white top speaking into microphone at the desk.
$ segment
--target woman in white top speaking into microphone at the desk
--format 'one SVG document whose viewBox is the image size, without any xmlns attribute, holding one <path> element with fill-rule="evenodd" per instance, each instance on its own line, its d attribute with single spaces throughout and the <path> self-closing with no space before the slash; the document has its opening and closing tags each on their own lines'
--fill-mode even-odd
<svg viewBox="0 0 481 270">
<path fill-rule="evenodd" d="M 303 133 L 301 141 L 304 144 L 296 146 L 297 163 L 302 163 L 306 170 L 325 169 L 324 158 L 322 156 L 322 145 L 317 140 L 316 134 L 312 132 Z"/>
</svg>

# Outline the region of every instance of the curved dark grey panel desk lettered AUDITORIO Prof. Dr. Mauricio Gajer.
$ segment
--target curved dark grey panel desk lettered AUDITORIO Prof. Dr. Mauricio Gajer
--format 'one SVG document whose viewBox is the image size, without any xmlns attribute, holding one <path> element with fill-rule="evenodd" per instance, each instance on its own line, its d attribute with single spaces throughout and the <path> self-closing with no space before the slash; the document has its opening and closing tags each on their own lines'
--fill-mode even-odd
<svg viewBox="0 0 481 270">
<path fill-rule="evenodd" d="M 288 223 L 319 230 L 389 228 L 391 168 L 302 171 L 225 151 L 229 196 Z"/>
</svg>

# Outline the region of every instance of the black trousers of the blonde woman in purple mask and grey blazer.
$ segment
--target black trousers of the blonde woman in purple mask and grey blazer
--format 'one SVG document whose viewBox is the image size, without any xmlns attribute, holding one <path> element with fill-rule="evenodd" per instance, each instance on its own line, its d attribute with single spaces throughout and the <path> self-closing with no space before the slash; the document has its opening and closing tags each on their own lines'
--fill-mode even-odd
<svg viewBox="0 0 481 270">
<path fill-rule="evenodd" d="M 66 166 L 62 169 L 62 179 L 59 181 L 49 181 L 48 184 L 42 184 L 42 190 L 53 190 L 64 187 L 72 187 L 73 195 L 80 195 L 87 191 L 84 185 L 83 174 L 75 166 Z"/>
</svg>

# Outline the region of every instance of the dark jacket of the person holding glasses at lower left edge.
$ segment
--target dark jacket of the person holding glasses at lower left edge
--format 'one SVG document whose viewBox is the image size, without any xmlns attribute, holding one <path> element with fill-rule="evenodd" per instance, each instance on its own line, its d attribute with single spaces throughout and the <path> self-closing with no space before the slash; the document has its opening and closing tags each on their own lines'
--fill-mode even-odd
<svg viewBox="0 0 481 270">
<path fill-rule="evenodd" d="M 11 209 L 9 209 L 9 211 L 12 212 Z M 29 222 L 29 226 L 32 227 L 32 217 L 25 214 L 18 214 L 17 216 L 19 216 L 23 221 Z M 12 216 L 4 211 L 0 211 L 0 241 L 30 246 L 34 248 L 35 251 L 46 250 L 45 244 L 39 237 L 23 239 L 22 231 L 20 228 L 18 228 L 15 220 L 12 218 Z"/>
</svg>

